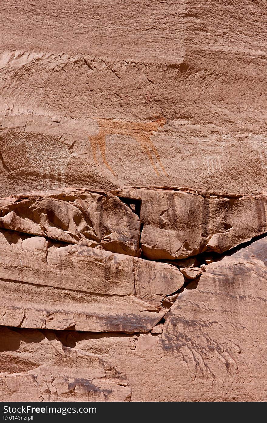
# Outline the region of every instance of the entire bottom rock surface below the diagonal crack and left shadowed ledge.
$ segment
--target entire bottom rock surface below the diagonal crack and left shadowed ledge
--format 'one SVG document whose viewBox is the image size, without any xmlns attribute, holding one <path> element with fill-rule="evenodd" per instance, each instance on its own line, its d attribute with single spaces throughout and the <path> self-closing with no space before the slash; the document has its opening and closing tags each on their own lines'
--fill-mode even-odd
<svg viewBox="0 0 267 423">
<path fill-rule="evenodd" d="M 266 255 L 263 238 L 206 266 L 162 334 L 1 327 L 1 399 L 266 401 Z"/>
</svg>

